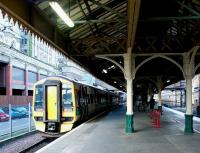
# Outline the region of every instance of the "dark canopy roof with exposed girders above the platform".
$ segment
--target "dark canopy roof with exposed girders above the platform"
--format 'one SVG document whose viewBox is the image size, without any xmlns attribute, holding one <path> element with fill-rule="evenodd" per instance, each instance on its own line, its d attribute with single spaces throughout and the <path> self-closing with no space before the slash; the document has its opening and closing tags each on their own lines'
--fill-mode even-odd
<svg viewBox="0 0 200 153">
<path fill-rule="evenodd" d="M 199 0 L 59 0 L 74 21 L 73 28 L 56 15 L 47 0 L 1 3 L 89 72 L 121 90 L 125 90 L 126 84 L 123 72 L 96 55 L 113 55 L 110 58 L 122 67 L 128 47 L 136 57 L 136 66 L 155 55 L 138 69 L 135 84 L 153 83 L 161 77 L 167 86 L 183 79 L 183 74 L 162 55 L 182 66 L 181 55 L 200 41 Z M 197 51 L 195 65 L 199 61 Z"/>
</svg>

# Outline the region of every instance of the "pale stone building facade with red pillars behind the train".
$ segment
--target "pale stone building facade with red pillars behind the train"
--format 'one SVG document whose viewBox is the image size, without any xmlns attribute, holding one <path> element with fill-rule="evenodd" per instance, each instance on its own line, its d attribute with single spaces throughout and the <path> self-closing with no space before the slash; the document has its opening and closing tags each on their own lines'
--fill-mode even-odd
<svg viewBox="0 0 200 153">
<path fill-rule="evenodd" d="M 32 96 L 36 81 L 61 73 L 60 59 L 67 58 L 0 12 L 0 104 Z"/>
</svg>

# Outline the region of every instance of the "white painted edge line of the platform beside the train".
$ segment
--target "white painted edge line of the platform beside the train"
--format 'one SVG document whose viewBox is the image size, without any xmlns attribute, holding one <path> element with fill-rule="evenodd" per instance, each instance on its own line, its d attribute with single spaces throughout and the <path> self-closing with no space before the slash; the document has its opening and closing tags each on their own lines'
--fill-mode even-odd
<svg viewBox="0 0 200 153">
<path fill-rule="evenodd" d="M 55 141 L 51 142 L 50 144 L 46 145 L 45 147 L 41 148 L 40 150 L 38 150 L 36 153 L 42 153 L 45 150 L 48 150 L 48 148 L 50 148 L 51 146 L 55 145 L 56 143 L 59 143 L 60 141 L 63 141 L 64 139 L 67 138 L 68 135 L 74 133 L 75 131 L 79 130 L 81 127 L 83 127 L 86 123 L 91 122 L 92 120 L 95 120 L 96 118 L 98 118 L 99 116 L 101 116 L 102 114 L 104 114 L 106 111 L 94 116 L 93 118 L 91 118 L 90 120 L 88 120 L 87 122 L 82 123 L 81 125 L 79 125 L 78 127 L 72 129 L 71 131 L 69 131 L 68 133 L 64 134 L 63 136 L 61 136 L 60 138 L 56 139 Z"/>
</svg>

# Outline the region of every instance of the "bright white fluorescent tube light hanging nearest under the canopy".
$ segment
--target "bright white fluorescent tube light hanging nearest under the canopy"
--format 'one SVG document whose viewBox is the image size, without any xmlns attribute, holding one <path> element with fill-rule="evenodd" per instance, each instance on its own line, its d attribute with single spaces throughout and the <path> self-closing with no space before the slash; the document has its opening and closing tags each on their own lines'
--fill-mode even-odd
<svg viewBox="0 0 200 153">
<path fill-rule="evenodd" d="M 61 8 L 58 2 L 51 1 L 49 5 L 52 9 L 57 13 L 57 15 L 69 26 L 74 27 L 73 21 L 69 18 L 69 16 L 65 13 L 65 11 Z"/>
</svg>

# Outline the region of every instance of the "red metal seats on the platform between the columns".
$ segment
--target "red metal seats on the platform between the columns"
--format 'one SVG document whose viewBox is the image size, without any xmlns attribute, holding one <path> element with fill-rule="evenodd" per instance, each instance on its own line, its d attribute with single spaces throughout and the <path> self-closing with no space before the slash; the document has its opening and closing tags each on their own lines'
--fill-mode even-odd
<svg viewBox="0 0 200 153">
<path fill-rule="evenodd" d="M 151 125 L 154 128 L 160 128 L 160 110 L 155 109 L 152 112 L 149 113 L 149 116 L 151 118 Z"/>
</svg>

